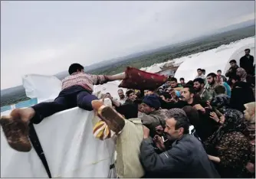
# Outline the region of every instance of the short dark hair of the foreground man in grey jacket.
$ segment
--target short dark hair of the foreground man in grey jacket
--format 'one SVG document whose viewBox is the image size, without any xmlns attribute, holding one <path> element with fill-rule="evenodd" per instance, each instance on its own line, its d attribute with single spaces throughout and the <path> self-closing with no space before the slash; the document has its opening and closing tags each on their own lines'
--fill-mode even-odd
<svg viewBox="0 0 256 179">
<path fill-rule="evenodd" d="M 176 125 L 175 125 L 176 130 L 179 128 L 183 128 L 184 129 L 183 134 L 189 134 L 190 122 L 187 116 L 185 116 L 180 112 L 178 114 L 174 114 L 172 118 L 176 120 Z"/>
</svg>

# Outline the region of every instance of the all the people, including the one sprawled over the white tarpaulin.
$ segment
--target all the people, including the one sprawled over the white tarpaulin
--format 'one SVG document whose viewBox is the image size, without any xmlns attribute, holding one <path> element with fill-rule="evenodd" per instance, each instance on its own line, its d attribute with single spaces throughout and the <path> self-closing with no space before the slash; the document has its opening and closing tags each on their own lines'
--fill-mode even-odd
<svg viewBox="0 0 256 179">
<path fill-rule="evenodd" d="M 92 85 L 125 76 L 88 75 L 84 67 L 72 65 L 54 102 L 2 116 L 11 148 L 31 150 L 28 128 L 21 125 L 38 124 L 79 106 L 94 109 L 100 117 L 94 136 L 116 136 L 117 177 L 255 177 L 255 68 L 250 50 L 245 50 L 240 67 L 231 60 L 225 75 L 221 70 L 205 75 L 199 68 L 187 83 L 170 77 L 154 90 L 120 89 L 119 99 L 110 93 L 103 97 L 110 99 L 110 106 L 91 94 Z"/>
</svg>

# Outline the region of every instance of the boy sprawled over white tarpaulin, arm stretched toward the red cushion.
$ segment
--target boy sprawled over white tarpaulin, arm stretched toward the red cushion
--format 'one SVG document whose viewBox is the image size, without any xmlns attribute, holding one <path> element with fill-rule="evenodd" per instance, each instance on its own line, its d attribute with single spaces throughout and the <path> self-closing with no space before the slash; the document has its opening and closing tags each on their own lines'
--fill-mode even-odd
<svg viewBox="0 0 256 179">
<path fill-rule="evenodd" d="M 92 95 L 94 85 L 113 80 L 124 80 L 126 75 L 116 76 L 90 75 L 84 73 L 84 67 L 73 63 L 68 69 L 70 76 L 62 81 L 61 93 L 54 102 L 38 103 L 26 109 L 14 109 L 10 116 L 2 116 L 0 125 L 11 148 L 17 151 L 30 151 L 31 143 L 28 139 L 28 124 L 40 123 L 44 118 L 71 109 L 76 106 L 88 111 L 93 110 L 91 102 L 97 99 Z"/>
</svg>

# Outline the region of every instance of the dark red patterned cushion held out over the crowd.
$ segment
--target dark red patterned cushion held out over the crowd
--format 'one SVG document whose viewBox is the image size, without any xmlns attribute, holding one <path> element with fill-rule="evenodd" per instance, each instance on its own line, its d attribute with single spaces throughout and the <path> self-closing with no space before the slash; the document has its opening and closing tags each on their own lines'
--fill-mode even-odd
<svg viewBox="0 0 256 179">
<path fill-rule="evenodd" d="M 166 83 L 167 77 L 156 73 L 148 73 L 133 67 L 126 68 L 126 79 L 119 87 L 128 89 L 157 89 Z"/>
</svg>

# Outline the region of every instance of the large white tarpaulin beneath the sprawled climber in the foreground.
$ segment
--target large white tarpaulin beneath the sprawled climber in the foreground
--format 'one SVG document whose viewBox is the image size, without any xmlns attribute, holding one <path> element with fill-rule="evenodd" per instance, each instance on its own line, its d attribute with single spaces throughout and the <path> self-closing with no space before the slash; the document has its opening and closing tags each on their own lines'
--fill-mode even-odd
<svg viewBox="0 0 256 179">
<path fill-rule="evenodd" d="M 34 125 L 52 177 L 108 177 L 113 164 L 113 139 L 94 138 L 94 112 L 68 109 Z M 34 151 L 9 147 L 1 128 L 1 177 L 48 177 Z"/>
</svg>

